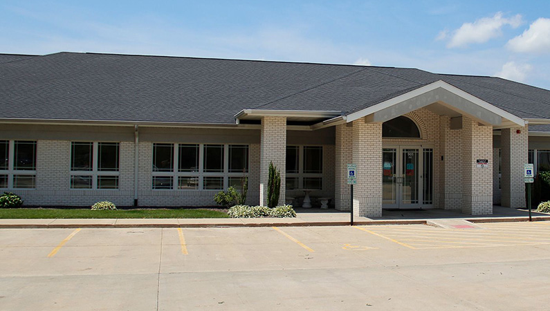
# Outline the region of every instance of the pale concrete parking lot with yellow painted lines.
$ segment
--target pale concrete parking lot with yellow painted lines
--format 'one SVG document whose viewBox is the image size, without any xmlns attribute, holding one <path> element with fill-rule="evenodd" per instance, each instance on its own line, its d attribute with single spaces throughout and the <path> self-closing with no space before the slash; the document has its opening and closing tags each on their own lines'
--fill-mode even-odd
<svg viewBox="0 0 550 311">
<path fill-rule="evenodd" d="M 1 310 L 550 310 L 550 222 L 0 229 Z"/>
</svg>

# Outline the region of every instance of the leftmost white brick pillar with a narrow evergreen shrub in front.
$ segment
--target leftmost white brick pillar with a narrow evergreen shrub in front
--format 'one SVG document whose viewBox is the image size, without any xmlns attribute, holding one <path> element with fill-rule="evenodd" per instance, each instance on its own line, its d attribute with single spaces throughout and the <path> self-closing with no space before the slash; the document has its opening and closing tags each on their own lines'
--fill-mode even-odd
<svg viewBox="0 0 550 311">
<path fill-rule="evenodd" d="M 279 205 L 284 205 L 286 189 L 286 117 L 262 117 L 260 146 L 259 204 L 267 206 L 269 162 L 281 172 Z"/>
</svg>

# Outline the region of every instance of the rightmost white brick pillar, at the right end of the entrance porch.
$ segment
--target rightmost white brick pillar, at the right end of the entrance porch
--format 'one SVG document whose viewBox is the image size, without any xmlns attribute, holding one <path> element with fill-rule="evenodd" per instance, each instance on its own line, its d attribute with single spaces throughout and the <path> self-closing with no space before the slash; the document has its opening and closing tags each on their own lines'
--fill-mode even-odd
<svg viewBox="0 0 550 311">
<path fill-rule="evenodd" d="M 517 131 L 521 133 L 517 133 Z M 525 207 L 525 182 L 523 166 L 528 160 L 529 129 L 527 126 L 502 129 L 500 147 L 502 177 L 500 179 L 502 206 Z"/>
</svg>

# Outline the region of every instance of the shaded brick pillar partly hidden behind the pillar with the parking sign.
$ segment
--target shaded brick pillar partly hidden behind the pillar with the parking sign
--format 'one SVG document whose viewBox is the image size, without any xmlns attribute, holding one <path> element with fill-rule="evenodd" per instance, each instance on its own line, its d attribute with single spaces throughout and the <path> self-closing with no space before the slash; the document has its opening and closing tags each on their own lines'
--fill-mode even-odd
<svg viewBox="0 0 550 311">
<path fill-rule="evenodd" d="M 352 135 L 351 124 L 340 124 L 336 126 L 336 176 L 334 185 L 334 207 L 339 211 L 349 211 L 349 205 L 351 204 L 346 173 L 347 164 L 351 164 L 351 161 L 353 160 Z"/>
</svg>

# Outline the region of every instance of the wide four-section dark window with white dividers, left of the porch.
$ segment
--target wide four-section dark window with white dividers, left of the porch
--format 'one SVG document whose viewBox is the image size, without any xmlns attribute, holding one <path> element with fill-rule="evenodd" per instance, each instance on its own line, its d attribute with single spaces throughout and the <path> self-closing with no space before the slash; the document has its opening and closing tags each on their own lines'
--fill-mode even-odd
<svg viewBox="0 0 550 311">
<path fill-rule="evenodd" d="M 248 145 L 153 144 L 154 190 L 222 190 L 242 187 Z"/>
</svg>

